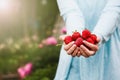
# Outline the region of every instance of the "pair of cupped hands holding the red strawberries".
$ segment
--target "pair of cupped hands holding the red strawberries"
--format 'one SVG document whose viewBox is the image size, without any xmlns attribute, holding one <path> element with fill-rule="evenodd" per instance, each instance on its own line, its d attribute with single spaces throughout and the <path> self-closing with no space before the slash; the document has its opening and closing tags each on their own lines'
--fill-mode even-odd
<svg viewBox="0 0 120 80">
<path fill-rule="evenodd" d="M 64 40 L 64 38 L 67 35 L 60 36 L 61 40 Z M 99 43 L 100 38 L 97 38 L 97 42 Z M 81 45 L 80 47 L 77 47 L 73 42 L 70 42 L 69 44 L 64 45 L 64 50 L 67 52 L 68 55 L 71 55 L 73 57 L 75 56 L 84 56 L 86 58 L 95 55 L 96 51 L 98 51 L 98 43 L 97 44 L 91 44 L 87 41 L 83 41 L 84 45 Z"/>
</svg>

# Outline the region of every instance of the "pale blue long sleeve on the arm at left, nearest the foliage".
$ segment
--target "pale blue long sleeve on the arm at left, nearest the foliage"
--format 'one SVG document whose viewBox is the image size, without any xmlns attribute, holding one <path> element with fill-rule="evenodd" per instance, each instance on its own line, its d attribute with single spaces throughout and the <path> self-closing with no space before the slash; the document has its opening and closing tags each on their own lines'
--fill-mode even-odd
<svg viewBox="0 0 120 80">
<path fill-rule="evenodd" d="M 77 0 L 57 0 L 60 15 L 66 24 L 67 34 L 72 34 L 75 30 L 81 33 L 84 29 L 84 17 L 76 1 Z"/>
</svg>

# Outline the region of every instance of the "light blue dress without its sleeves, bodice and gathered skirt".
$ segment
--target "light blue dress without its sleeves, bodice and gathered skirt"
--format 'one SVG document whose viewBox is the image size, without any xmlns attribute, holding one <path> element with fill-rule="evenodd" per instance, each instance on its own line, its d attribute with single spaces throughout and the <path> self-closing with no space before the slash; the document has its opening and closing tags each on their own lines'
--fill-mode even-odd
<svg viewBox="0 0 120 80">
<path fill-rule="evenodd" d="M 83 13 L 85 27 L 92 31 L 108 0 L 75 1 Z M 55 80 L 120 80 L 120 22 L 116 26 L 94 56 L 71 57 L 62 48 Z"/>
</svg>

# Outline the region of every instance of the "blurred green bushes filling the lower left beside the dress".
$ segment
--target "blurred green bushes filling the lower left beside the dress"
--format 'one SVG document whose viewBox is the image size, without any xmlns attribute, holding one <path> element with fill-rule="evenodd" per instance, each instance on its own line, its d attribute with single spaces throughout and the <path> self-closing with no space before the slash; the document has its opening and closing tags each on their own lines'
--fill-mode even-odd
<svg viewBox="0 0 120 80">
<path fill-rule="evenodd" d="M 39 48 L 36 42 L 19 43 L 19 41 L 4 45 L 6 47 L 0 50 L 0 74 L 17 74 L 19 67 L 32 62 L 32 74 L 25 80 L 42 80 L 43 78 L 52 80 L 54 78 L 60 46 L 51 45 Z"/>
</svg>

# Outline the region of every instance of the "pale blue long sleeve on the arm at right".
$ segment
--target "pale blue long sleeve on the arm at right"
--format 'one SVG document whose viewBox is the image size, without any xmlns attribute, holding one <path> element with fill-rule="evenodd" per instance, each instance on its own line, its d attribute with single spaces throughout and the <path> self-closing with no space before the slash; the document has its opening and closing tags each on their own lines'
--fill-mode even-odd
<svg viewBox="0 0 120 80">
<path fill-rule="evenodd" d="M 108 0 L 93 33 L 106 42 L 120 23 L 120 0 Z M 119 26 L 120 27 L 120 26 Z"/>
</svg>

